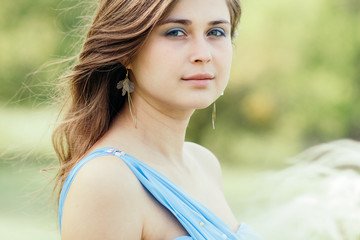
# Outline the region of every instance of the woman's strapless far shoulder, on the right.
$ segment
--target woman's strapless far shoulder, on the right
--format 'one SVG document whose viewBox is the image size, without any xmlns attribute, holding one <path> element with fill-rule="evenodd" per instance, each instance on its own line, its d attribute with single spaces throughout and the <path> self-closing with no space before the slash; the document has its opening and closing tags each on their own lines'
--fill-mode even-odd
<svg viewBox="0 0 360 240">
<path fill-rule="evenodd" d="M 217 157 L 207 148 L 193 143 L 185 142 L 185 149 L 189 152 L 199 164 L 209 173 L 214 176 L 220 185 L 222 185 L 222 172 L 220 162 Z"/>
</svg>

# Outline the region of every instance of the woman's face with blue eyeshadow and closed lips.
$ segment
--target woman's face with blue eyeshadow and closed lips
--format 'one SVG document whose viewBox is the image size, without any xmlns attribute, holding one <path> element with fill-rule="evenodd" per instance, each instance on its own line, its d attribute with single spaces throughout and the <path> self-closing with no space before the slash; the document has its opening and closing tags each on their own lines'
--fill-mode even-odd
<svg viewBox="0 0 360 240">
<path fill-rule="evenodd" d="M 226 0 L 179 0 L 129 65 L 132 96 L 158 108 L 207 107 L 227 85 L 231 58 Z"/>
</svg>

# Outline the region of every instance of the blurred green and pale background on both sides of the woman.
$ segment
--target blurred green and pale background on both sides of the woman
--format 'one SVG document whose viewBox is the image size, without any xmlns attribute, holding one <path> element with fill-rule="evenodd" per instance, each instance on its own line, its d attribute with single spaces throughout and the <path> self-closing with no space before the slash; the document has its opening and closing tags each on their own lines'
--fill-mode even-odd
<svg viewBox="0 0 360 240">
<path fill-rule="evenodd" d="M 255 176 L 285 167 L 288 157 L 314 144 L 360 138 L 360 1 L 242 4 L 216 130 L 211 108 L 198 111 L 188 130 L 188 140 L 222 162 L 236 213 L 246 208 Z M 65 66 L 41 66 L 76 51 L 86 6 L 74 0 L 2 2 L 0 239 L 59 239 L 46 186 L 56 171 L 40 169 L 56 166 L 50 135 L 58 106 L 51 97 Z"/>
</svg>

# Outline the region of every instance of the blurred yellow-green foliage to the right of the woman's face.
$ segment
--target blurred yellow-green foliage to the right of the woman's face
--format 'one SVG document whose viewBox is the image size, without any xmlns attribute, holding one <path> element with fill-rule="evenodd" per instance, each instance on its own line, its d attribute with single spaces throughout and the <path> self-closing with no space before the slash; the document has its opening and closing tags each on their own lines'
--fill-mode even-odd
<svg viewBox="0 0 360 240">
<path fill-rule="evenodd" d="M 230 162 L 265 167 L 319 142 L 358 139 L 360 2 L 242 3 L 216 130 L 210 130 L 208 109 L 202 119 L 194 117 L 190 139 Z"/>
</svg>

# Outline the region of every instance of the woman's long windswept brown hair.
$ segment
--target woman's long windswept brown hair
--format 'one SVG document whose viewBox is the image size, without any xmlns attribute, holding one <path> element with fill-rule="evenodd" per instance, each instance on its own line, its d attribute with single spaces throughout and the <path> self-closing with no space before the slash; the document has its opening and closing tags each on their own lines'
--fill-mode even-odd
<svg viewBox="0 0 360 240">
<path fill-rule="evenodd" d="M 71 168 L 109 129 L 125 103 L 116 89 L 119 79 L 156 24 L 177 0 L 101 0 L 70 74 L 61 78 L 68 91 L 62 121 L 52 140 L 60 161 L 55 189 Z M 226 0 L 231 36 L 239 22 L 238 0 Z"/>
</svg>

